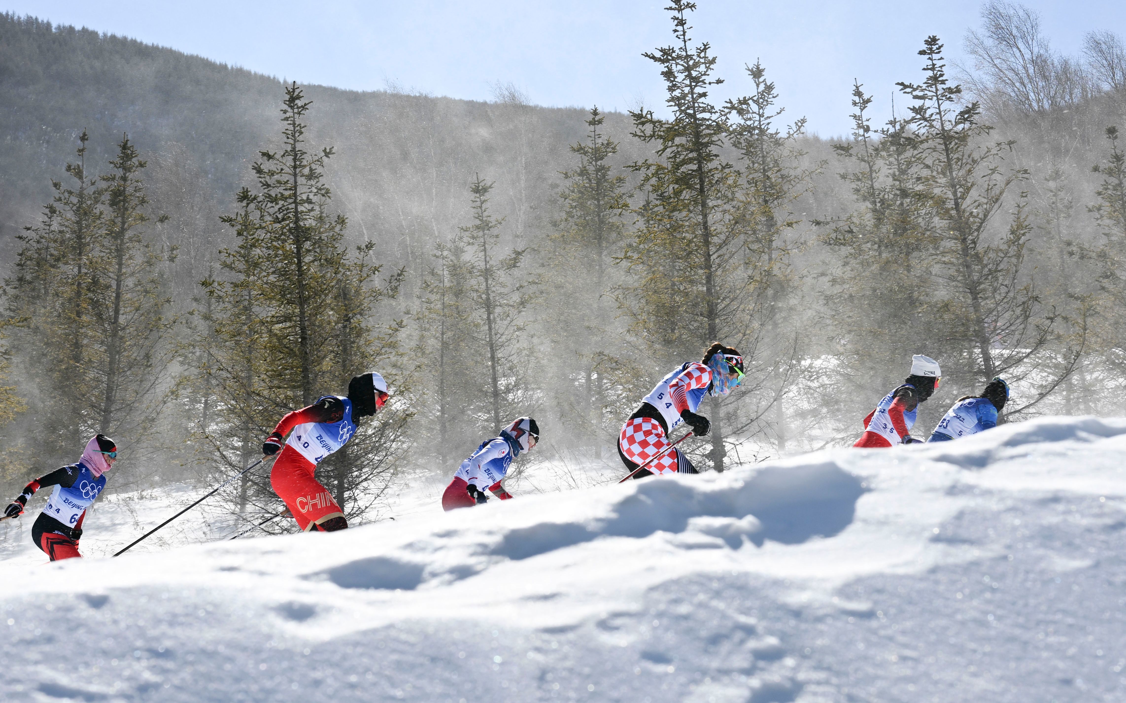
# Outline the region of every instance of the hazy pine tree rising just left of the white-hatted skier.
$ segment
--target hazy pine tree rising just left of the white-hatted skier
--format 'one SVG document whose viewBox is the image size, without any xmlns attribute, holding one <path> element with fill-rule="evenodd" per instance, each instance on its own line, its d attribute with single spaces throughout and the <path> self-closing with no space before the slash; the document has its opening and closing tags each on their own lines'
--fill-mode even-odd
<svg viewBox="0 0 1126 703">
<path fill-rule="evenodd" d="M 840 178 L 850 186 L 855 209 L 833 223 L 822 241 L 842 253 L 826 295 L 833 353 L 842 363 L 825 404 L 835 417 L 867 412 L 872 387 L 892 388 L 912 354 L 932 342 L 929 318 L 933 296 L 931 198 L 919 187 L 921 163 L 911 126 L 892 117 L 873 129 L 872 98 L 854 84 L 852 139 L 835 145 L 846 163 Z M 937 353 L 937 352 L 936 352 Z M 855 426 L 841 427 L 855 440 Z"/>
</svg>

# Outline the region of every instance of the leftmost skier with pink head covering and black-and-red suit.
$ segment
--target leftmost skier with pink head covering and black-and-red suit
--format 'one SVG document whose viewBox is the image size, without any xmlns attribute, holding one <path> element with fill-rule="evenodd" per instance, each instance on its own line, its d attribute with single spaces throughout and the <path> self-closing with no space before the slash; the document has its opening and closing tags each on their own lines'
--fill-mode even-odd
<svg viewBox="0 0 1126 703">
<path fill-rule="evenodd" d="M 78 541 L 82 538 L 82 521 L 101 489 L 106 487 L 106 471 L 117 461 L 117 445 L 105 434 L 90 438 L 78 463 L 55 469 L 51 474 L 24 486 L 5 510 L 5 517 L 17 517 L 27 507 L 27 499 L 39 488 L 54 486 L 39 516 L 32 525 L 32 539 L 52 561 L 81 557 Z"/>
</svg>

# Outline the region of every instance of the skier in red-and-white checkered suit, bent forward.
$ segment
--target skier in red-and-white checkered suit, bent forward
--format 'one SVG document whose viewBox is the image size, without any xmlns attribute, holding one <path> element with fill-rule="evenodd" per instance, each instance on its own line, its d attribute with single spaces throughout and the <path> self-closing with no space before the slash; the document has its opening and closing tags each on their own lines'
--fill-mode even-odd
<svg viewBox="0 0 1126 703">
<path fill-rule="evenodd" d="M 725 396 L 743 379 L 743 358 L 739 351 L 714 342 L 701 361 L 688 361 L 661 379 L 629 416 L 618 435 L 618 456 L 633 471 L 669 447 L 669 431 L 681 422 L 689 424 L 696 436 L 706 435 L 712 423 L 697 415 L 705 395 Z M 667 472 L 699 474 L 679 450 L 665 452 L 660 459 L 637 471 L 634 478 Z"/>
</svg>

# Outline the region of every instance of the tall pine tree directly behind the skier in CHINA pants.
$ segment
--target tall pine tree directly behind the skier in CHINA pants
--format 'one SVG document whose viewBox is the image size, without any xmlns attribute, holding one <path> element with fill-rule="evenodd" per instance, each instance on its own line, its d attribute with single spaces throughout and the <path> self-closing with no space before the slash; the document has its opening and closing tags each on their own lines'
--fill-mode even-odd
<svg viewBox="0 0 1126 703">
<path fill-rule="evenodd" d="M 372 326 L 376 305 L 397 295 L 403 272 L 381 286 L 374 246 L 349 254 L 347 220 L 330 214 L 332 193 L 324 183 L 333 151 L 313 155 L 304 146 L 302 120 L 311 105 L 296 83 L 286 87 L 283 147 L 259 152 L 252 165 L 257 191 L 240 190 L 239 213 L 223 218 L 238 245 L 221 252 L 223 276 L 202 281 L 212 310 L 199 344 L 208 349 L 203 372 L 215 394 L 205 432 L 230 468 L 250 463 L 284 413 L 340 393 L 352 376 L 387 361 L 402 327 L 392 321 L 376 334 Z M 360 421 L 349 449 L 318 467 L 350 519 L 370 507 L 391 460 L 403 451 L 406 415 L 393 405 L 374 421 Z M 243 511 L 274 513 L 276 503 L 262 476 L 240 487 Z"/>
</svg>

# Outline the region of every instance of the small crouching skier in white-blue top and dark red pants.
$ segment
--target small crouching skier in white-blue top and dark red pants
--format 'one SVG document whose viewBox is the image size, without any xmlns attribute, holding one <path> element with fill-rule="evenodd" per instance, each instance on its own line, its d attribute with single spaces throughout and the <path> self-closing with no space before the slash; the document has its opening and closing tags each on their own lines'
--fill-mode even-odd
<svg viewBox="0 0 1126 703">
<path fill-rule="evenodd" d="M 508 475 L 512 459 L 521 452 L 531 451 L 539 441 L 539 425 L 530 417 L 517 417 L 501 431 L 499 436 L 481 442 L 481 447 L 462 462 L 454 474 L 454 480 L 441 494 L 441 507 L 473 507 L 489 499 L 485 488 L 501 501 L 512 497 L 501 481 Z"/>
</svg>

